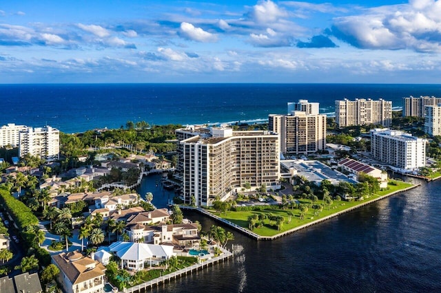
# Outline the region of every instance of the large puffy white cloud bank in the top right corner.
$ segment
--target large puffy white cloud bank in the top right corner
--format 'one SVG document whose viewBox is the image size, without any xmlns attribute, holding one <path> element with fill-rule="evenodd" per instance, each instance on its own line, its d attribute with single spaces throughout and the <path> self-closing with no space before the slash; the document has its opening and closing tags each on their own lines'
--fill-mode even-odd
<svg viewBox="0 0 441 293">
<path fill-rule="evenodd" d="M 413 0 L 334 21 L 340 39 L 367 49 L 441 52 L 441 1 Z"/>
</svg>

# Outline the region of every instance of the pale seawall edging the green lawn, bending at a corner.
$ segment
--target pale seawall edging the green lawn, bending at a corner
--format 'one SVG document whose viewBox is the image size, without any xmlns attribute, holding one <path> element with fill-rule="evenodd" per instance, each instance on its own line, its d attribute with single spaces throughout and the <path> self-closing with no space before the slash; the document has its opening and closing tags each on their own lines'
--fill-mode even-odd
<svg viewBox="0 0 441 293">
<path fill-rule="evenodd" d="M 441 176 L 438 177 L 438 178 L 441 178 Z M 311 222 L 309 222 L 307 224 L 303 224 L 303 225 L 298 226 L 296 228 L 292 228 L 292 229 L 286 230 L 286 231 L 278 233 L 278 234 L 276 234 L 274 236 L 261 236 L 261 235 L 258 235 L 255 232 L 252 232 L 252 231 L 250 231 L 250 230 L 248 230 L 246 228 L 243 228 L 241 226 L 238 226 L 237 224 L 234 224 L 232 221 L 228 221 L 227 219 L 223 219 L 222 217 L 218 217 L 217 215 L 209 213 L 209 212 L 207 212 L 207 210 L 204 210 L 203 208 L 196 208 L 196 207 L 192 207 L 192 206 L 179 206 L 179 207 L 181 209 L 184 209 L 184 210 L 185 209 L 187 209 L 187 210 L 196 210 L 198 213 L 206 215 L 207 217 L 215 219 L 216 221 L 220 221 L 221 223 L 229 226 L 230 228 L 233 228 L 234 230 L 242 232 L 243 234 L 245 234 L 245 235 L 247 235 L 249 237 L 252 237 L 252 238 L 256 239 L 257 241 L 260 241 L 260 240 L 272 241 L 274 239 L 278 239 L 280 237 L 284 237 L 284 236 L 289 235 L 291 233 L 297 232 L 298 230 L 302 230 L 302 229 L 308 228 L 309 226 L 314 226 L 316 224 L 320 224 L 322 221 L 326 221 L 328 219 L 331 219 L 331 218 L 334 218 L 334 217 L 338 217 L 339 215 L 342 215 L 344 213 L 348 213 L 348 212 L 350 212 L 352 210 L 355 210 L 357 208 L 361 208 L 362 206 L 367 206 L 368 204 L 372 204 L 373 202 L 378 202 L 379 200 L 382 200 L 382 199 L 384 199 L 386 197 L 390 197 L 390 196 L 396 195 L 398 193 L 409 191 L 409 190 L 411 190 L 413 188 L 417 188 L 419 186 L 421 186 L 420 183 L 414 184 L 412 186 L 409 186 L 407 188 L 401 189 L 399 191 L 393 191 L 391 193 L 388 193 L 387 195 L 382 195 L 380 197 L 377 197 L 376 199 L 369 200 L 369 202 L 364 202 L 362 204 L 358 204 L 357 206 L 352 206 L 351 208 L 347 208 L 345 210 L 340 210 L 340 212 L 334 213 L 332 215 L 328 215 L 326 217 L 322 217 L 320 219 L 316 219 L 315 221 L 311 221 Z"/>
</svg>

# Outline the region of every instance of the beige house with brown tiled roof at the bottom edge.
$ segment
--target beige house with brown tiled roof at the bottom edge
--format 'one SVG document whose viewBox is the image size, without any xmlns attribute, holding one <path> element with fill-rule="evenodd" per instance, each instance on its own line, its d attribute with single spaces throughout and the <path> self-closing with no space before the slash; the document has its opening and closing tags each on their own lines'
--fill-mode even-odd
<svg viewBox="0 0 441 293">
<path fill-rule="evenodd" d="M 67 293 L 103 292 L 105 267 L 78 251 L 52 255 L 60 270 L 59 283 Z"/>
</svg>

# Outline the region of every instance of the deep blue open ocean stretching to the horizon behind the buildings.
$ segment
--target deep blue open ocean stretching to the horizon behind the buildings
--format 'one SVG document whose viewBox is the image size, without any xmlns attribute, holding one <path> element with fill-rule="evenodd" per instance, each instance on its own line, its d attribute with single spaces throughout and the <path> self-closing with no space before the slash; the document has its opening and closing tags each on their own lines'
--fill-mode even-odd
<svg viewBox="0 0 441 293">
<path fill-rule="evenodd" d="M 365 84 L 54 84 L 0 85 L 0 125 L 50 125 L 65 133 L 149 124 L 262 122 L 287 113 L 287 102 L 320 102 L 332 116 L 334 100 L 383 98 L 394 109 L 402 97 L 441 96 L 441 85 Z"/>
</svg>

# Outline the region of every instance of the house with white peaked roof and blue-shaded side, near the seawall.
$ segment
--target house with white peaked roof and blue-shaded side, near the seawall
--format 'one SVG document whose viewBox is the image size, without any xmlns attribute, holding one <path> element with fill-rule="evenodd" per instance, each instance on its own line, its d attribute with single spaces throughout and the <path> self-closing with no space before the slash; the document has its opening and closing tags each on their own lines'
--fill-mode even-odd
<svg viewBox="0 0 441 293">
<path fill-rule="evenodd" d="M 122 268 L 134 271 L 147 268 L 145 265 L 158 265 L 176 255 L 173 246 L 147 243 L 118 241 L 109 249 L 121 259 Z"/>
</svg>

